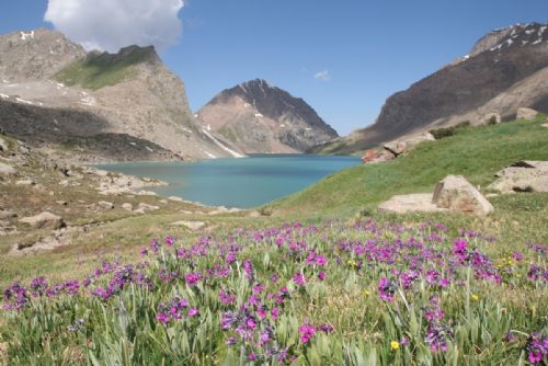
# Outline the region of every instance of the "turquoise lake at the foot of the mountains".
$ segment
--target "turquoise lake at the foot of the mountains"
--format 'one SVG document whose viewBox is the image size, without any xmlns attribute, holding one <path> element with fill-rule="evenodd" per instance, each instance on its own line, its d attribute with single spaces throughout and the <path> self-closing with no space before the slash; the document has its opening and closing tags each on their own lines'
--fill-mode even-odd
<svg viewBox="0 0 548 366">
<path fill-rule="evenodd" d="M 169 186 L 150 190 L 163 196 L 180 196 L 206 205 L 248 208 L 300 191 L 359 162 L 354 157 L 255 155 L 242 159 L 121 162 L 96 167 L 165 181 Z"/>
</svg>

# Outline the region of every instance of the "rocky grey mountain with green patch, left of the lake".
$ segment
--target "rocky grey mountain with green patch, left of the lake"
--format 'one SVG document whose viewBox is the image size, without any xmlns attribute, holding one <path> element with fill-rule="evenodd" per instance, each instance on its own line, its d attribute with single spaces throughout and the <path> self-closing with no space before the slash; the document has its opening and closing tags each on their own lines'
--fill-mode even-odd
<svg viewBox="0 0 548 366">
<path fill-rule="evenodd" d="M 110 145 L 111 138 L 122 146 L 110 160 L 132 160 L 128 152 L 136 147 L 140 153 L 135 159 L 140 160 L 147 151 L 149 159 L 241 156 L 201 127 L 190 111 L 183 82 L 153 47 L 85 53 L 49 30 L 1 35 L 0 105 L 0 127 L 5 133 L 48 147 L 79 140 L 89 148 L 78 149 L 81 160 L 104 160 L 100 148 Z M 32 111 L 21 119 L 23 108 Z"/>
</svg>

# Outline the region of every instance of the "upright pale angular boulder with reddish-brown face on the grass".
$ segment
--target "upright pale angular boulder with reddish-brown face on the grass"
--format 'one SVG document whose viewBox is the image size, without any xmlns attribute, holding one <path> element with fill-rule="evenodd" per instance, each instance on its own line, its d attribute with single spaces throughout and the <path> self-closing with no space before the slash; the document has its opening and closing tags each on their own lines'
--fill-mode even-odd
<svg viewBox="0 0 548 366">
<path fill-rule="evenodd" d="M 432 203 L 438 208 L 479 216 L 493 210 L 489 201 L 461 175 L 447 175 L 439 181 Z"/>
</svg>

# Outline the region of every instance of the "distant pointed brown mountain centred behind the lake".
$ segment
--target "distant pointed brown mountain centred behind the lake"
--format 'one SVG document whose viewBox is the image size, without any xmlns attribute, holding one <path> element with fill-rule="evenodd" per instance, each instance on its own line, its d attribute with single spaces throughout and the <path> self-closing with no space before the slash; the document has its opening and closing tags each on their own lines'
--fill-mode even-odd
<svg viewBox="0 0 548 366">
<path fill-rule="evenodd" d="M 247 153 L 302 152 L 338 137 L 302 99 L 261 79 L 221 91 L 197 118 Z"/>
</svg>

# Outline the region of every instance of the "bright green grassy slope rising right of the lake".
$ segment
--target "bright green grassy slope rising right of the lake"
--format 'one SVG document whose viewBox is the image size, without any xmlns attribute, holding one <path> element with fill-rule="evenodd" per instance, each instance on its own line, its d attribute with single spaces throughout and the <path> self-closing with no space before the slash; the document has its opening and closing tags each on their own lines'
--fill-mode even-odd
<svg viewBox="0 0 548 366">
<path fill-rule="evenodd" d="M 546 116 L 539 116 L 532 122 L 465 128 L 455 136 L 423 142 L 396 160 L 330 175 L 265 209 L 276 215 L 328 216 L 370 209 L 396 194 L 432 192 L 447 174 L 461 174 L 486 187 L 495 172 L 516 160 L 548 160 L 545 121 Z"/>
</svg>

